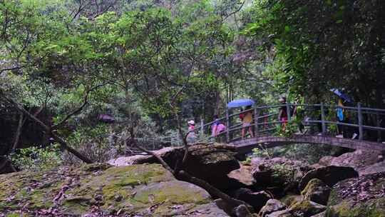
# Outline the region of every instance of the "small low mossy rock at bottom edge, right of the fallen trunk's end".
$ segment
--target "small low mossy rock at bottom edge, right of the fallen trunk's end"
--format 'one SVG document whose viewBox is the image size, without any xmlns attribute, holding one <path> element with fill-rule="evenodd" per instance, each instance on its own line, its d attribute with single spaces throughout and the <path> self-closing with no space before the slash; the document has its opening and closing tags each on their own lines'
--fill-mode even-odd
<svg viewBox="0 0 385 217">
<path fill-rule="evenodd" d="M 319 203 L 314 203 L 313 201 L 303 200 L 294 203 L 289 208 L 294 216 L 310 217 L 322 213 L 327 207 Z"/>
</svg>

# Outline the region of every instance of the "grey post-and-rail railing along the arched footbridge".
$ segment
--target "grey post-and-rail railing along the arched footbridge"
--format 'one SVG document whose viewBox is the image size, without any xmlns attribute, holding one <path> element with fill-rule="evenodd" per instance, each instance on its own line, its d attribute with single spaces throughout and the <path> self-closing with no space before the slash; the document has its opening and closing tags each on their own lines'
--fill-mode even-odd
<svg viewBox="0 0 385 217">
<path fill-rule="evenodd" d="M 354 133 L 358 134 L 358 139 L 363 140 L 364 134 L 368 131 L 376 131 L 376 140 L 382 141 L 382 134 L 385 131 L 385 109 L 372 109 L 362 107 L 361 104 L 357 104 L 356 107 L 352 106 L 337 106 L 327 104 L 279 104 L 272 106 L 255 106 L 252 109 L 245 111 L 230 113 L 227 110 L 224 117 L 218 120 L 225 123 L 227 126 L 226 131 L 222 131 L 217 134 L 218 138 L 225 137 L 225 141 L 230 142 L 239 139 L 238 134 L 242 131 L 242 121 L 240 121 L 240 113 L 252 112 L 253 122 L 250 127 L 253 128 L 255 136 L 261 136 L 271 133 L 277 133 L 278 126 L 281 126 L 284 121 L 277 120 L 277 108 L 284 108 L 287 111 L 288 123 L 293 123 L 294 118 L 297 120 L 297 124 L 302 126 L 319 126 L 317 133 L 322 136 L 327 136 L 332 133 L 331 126 L 339 126 L 354 128 Z M 293 109 L 297 109 L 297 113 L 293 113 Z M 349 121 L 341 122 L 337 121 L 336 109 L 344 109 L 345 115 L 349 114 Z M 200 126 L 195 128 L 195 131 L 200 131 L 200 134 L 205 132 L 211 132 L 212 123 L 203 123 L 201 121 Z M 341 132 L 340 132 L 341 133 Z M 212 138 L 209 136 L 209 138 Z"/>
</svg>

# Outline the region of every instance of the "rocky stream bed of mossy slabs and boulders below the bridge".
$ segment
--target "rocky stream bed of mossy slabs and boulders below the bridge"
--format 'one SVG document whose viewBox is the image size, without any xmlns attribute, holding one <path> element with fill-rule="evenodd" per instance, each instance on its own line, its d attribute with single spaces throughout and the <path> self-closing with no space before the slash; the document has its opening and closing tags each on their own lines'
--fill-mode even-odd
<svg viewBox="0 0 385 217">
<path fill-rule="evenodd" d="M 158 154 L 173 168 L 183 149 Z M 185 171 L 250 204 L 252 214 L 178 181 L 152 156 L 22 171 L 0 175 L 0 216 L 384 217 L 382 159 L 355 151 L 315 165 L 287 158 L 240 163 L 225 146 L 190 147 Z"/>
</svg>

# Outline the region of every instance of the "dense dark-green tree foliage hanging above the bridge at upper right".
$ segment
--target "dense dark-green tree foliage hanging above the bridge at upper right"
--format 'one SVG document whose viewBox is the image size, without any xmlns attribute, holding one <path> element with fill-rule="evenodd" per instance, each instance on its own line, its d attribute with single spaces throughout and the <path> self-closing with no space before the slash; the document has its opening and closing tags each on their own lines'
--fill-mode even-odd
<svg viewBox="0 0 385 217">
<path fill-rule="evenodd" d="M 260 1 L 245 32 L 274 46 L 279 88 L 307 101 L 345 89 L 384 108 L 384 1 Z"/>
</svg>

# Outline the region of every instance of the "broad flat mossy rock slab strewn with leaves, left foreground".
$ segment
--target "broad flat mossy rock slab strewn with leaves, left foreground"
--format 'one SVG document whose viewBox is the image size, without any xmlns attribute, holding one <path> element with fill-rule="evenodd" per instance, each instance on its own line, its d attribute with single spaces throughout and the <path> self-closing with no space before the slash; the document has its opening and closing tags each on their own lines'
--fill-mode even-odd
<svg viewBox="0 0 385 217">
<path fill-rule="evenodd" d="M 0 183 L 0 213 L 10 215 L 227 216 L 205 190 L 159 164 L 19 172 L 0 175 Z"/>
</svg>

